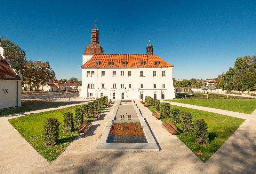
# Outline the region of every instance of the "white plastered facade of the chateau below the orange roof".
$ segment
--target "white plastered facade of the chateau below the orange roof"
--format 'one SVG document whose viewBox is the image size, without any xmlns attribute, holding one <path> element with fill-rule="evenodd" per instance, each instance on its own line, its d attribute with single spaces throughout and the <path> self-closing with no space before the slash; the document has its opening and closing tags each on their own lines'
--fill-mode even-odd
<svg viewBox="0 0 256 174">
<path fill-rule="evenodd" d="M 116 72 L 116 77 L 113 77 L 113 71 Z M 128 71 L 131 76 L 128 76 Z M 140 71 L 143 71 L 143 77 L 140 76 Z M 91 77 L 87 76 L 87 72 L 91 72 Z M 175 98 L 172 67 L 94 67 L 82 68 L 82 73 L 80 97 L 100 98 L 107 95 L 109 99 L 145 99 L 145 96 L 157 99 Z"/>
</svg>

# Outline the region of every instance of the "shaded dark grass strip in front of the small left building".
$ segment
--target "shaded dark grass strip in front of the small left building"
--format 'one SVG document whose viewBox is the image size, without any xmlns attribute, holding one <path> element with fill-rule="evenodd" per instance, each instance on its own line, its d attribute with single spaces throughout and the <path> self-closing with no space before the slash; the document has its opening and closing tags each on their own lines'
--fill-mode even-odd
<svg viewBox="0 0 256 174">
<path fill-rule="evenodd" d="M 75 104 L 77 102 L 45 102 L 45 101 L 22 101 L 22 106 L 16 108 L 9 108 L 0 110 L 0 116 L 26 112 L 30 110 L 41 110 L 47 108 L 54 108 L 58 106 L 65 106 Z"/>
</svg>

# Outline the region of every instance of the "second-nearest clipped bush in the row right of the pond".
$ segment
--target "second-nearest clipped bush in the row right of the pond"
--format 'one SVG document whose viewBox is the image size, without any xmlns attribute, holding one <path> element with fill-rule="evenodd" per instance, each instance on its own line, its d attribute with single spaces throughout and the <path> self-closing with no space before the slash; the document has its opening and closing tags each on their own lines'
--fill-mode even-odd
<svg viewBox="0 0 256 174">
<path fill-rule="evenodd" d="M 181 112 L 180 129 L 183 132 L 193 132 L 192 115 L 190 112 Z"/>
</svg>

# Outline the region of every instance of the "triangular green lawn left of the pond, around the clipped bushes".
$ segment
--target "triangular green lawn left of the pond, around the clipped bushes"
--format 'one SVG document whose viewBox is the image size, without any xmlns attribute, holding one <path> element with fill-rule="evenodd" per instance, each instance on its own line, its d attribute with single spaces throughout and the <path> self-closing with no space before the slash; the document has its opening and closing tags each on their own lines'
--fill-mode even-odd
<svg viewBox="0 0 256 174">
<path fill-rule="evenodd" d="M 52 162 L 60 155 L 60 152 L 56 152 L 56 150 L 61 149 L 63 152 L 78 135 L 78 125 L 75 125 L 73 132 L 63 132 L 63 114 L 70 111 L 75 115 L 77 107 L 81 107 L 81 105 L 13 118 L 9 122 L 38 153 L 48 162 Z M 105 107 L 105 105 L 101 106 L 98 111 L 101 112 Z M 44 145 L 44 121 L 50 117 L 60 121 L 59 141 L 56 146 Z M 92 120 L 92 115 L 90 115 L 88 121 Z"/>
</svg>

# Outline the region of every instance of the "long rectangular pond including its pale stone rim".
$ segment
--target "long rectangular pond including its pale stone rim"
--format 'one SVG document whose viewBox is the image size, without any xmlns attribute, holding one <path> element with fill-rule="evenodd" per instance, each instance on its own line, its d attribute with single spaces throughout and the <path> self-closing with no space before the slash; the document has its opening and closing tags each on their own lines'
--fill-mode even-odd
<svg viewBox="0 0 256 174">
<path fill-rule="evenodd" d="M 116 108 L 95 150 L 159 151 L 135 102 L 133 100 L 116 102 Z"/>
</svg>

